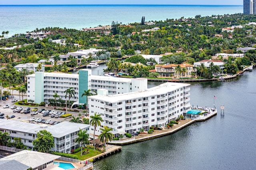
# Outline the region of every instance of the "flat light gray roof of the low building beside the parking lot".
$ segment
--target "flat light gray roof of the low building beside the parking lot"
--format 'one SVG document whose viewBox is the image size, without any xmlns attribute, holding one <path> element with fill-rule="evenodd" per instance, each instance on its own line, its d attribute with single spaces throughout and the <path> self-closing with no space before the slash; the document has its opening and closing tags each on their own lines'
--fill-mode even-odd
<svg viewBox="0 0 256 170">
<path fill-rule="evenodd" d="M 26 133 L 36 134 L 40 130 L 46 130 L 52 134 L 53 137 L 60 138 L 70 133 L 79 131 L 79 129 L 86 129 L 90 125 L 84 123 L 72 123 L 68 121 L 63 121 L 54 126 L 45 126 L 34 123 L 27 123 L 15 120 L 0 120 L 0 129 L 9 129 L 11 131 L 21 131 Z"/>
</svg>

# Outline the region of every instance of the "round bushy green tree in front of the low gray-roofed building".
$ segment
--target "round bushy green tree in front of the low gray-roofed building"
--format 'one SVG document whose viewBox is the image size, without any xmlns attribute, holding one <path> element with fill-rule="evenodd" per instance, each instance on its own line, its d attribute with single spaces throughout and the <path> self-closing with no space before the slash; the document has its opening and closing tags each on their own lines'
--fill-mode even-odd
<svg viewBox="0 0 256 170">
<path fill-rule="evenodd" d="M 49 152 L 54 147 L 54 138 L 52 134 L 46 130 L 39 131 L 36 139 L 32 142 L 34 149 L 38 152 Z"/>
</svg>

